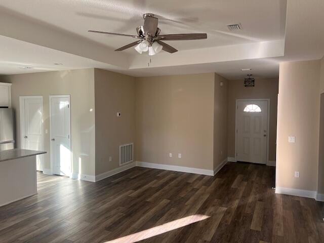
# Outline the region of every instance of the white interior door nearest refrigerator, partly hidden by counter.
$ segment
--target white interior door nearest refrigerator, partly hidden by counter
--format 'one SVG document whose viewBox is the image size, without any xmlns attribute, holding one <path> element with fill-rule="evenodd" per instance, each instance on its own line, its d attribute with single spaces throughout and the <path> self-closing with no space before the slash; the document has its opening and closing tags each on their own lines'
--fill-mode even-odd
<svg viewBox="0 0 324 243">
<path fill-rule="evenodd" d="M 19 97 L 19 103 L 21 148 L 30 150 L 43 150 L 43 97 L 21 96 Z M 43 163 L 44 155 L 37 155 L 37 171 L 43 171 Z"/>
</svg>

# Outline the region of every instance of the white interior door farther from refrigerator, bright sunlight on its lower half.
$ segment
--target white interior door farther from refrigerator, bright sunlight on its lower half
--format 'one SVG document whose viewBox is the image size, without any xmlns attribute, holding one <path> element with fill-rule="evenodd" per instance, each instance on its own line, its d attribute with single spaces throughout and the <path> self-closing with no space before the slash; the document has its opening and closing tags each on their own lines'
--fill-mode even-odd
<svg viewBox="0 0 324 243">
<path fill-rule="evenodd" d="M 50 96 L 53 174 L 71 175 L 70 97 Z"/>
</svg>

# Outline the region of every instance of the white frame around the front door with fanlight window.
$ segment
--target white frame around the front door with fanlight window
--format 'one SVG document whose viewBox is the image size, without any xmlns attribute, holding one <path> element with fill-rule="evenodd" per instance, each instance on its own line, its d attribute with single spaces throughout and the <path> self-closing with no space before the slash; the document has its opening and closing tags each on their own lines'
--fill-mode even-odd
<svg viewBox="0 0 324 243">
<path fill-rule="evenodd" d="M 267 159 L 266 165 L 269 163 L 269 137 L 270 137 L 270 99 L 236 99 L 235 100 L 235 161 L 237 161 L 237 106 L 239 101 L 267 101 L 268 117 L 267 117 Z"/>
</svg>

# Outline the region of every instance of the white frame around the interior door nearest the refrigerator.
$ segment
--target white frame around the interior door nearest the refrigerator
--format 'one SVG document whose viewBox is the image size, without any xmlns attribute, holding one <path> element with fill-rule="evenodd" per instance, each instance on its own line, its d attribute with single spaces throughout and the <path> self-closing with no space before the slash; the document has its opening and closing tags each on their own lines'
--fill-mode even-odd
<svg viewBox="0 0 324 243">
<path fill-rule="evenodd" d="M 25 99 L 32 99 L 32 98 L 36 98 L 36 99 L 42 99 L 42 149 L 44 150 L 45 148 L 45 139 L 44 139 L 44 104 L 43 104 L 43 96 L 42 95 L 30 95 L 30 96 L 19 96 L 19 123 L 20 123 L 20 147 L 24 148 L 23 146 L 24 144 L 24 133 L 25 133 L 25 105 L 24 105 L 24 101 Z M 44 159 L 43 159 L 43 163 L 44 163 Z M 43 165 L 44 167 L 44 165 Z M 43 168 L 44 169 L 44 168 Z"/>
</svg>

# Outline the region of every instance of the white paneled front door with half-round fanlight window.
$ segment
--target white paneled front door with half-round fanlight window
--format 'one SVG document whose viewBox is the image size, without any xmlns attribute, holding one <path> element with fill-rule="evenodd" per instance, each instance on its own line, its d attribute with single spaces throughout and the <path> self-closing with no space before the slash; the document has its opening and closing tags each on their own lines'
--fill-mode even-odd
<svg viewBox="0 0 324 243">
<path fill-rule="evenodd" d="M 268 100 L 236 102 L 236 160 L 266 164 Z"/>
</svg>

